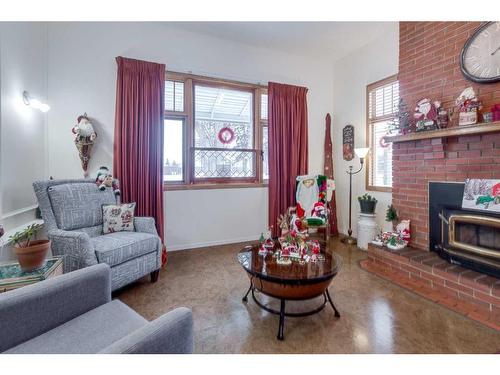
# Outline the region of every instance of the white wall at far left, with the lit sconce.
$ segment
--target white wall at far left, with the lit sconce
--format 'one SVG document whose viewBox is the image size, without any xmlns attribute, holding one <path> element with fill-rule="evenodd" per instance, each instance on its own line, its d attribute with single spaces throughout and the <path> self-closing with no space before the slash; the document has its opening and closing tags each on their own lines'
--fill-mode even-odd
<svg viewBox="0 0 500 375">
<path fill-rule="evenodd" d="M 34 219 L 32 183 L 47 176 L 46 115 L 22 93 L 47 101 L 47 25 L 0 23 L 0 223 L 11 230 Z M 0 260 L 11 258 L 3 249 Z"/>
</svg>

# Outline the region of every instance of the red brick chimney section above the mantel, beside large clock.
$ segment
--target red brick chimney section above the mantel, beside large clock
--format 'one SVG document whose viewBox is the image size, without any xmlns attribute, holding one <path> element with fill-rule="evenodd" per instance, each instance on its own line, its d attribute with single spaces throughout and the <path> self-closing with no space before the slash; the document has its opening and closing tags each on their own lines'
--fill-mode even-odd
<svg viewBox="0 0 500 375">
<path fill-rule="evenodd" d="M 468 81 L 460 71 L 460 52 L 480 22 L 400 22 L 400 93 L 412 110 L 422 98 L 441 100 L 445 108 L 472 86 L 485 109 L 500 102 L 500 83 Z M 456 122 L 457 116 L 454 121 Z"/>
</svg>

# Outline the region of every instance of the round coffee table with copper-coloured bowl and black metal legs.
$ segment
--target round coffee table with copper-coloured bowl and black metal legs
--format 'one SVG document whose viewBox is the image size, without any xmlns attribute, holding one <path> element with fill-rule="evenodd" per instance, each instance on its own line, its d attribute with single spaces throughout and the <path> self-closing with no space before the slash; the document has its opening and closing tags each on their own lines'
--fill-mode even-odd
<svg viewBox="0 0 500 375">
<path fill-rule="evenodd" d="M 259 255 L 259 246 L 246 246 L 238 253 L 238 261 L 250 278 L 250 287 L 243 297 L 248 301 L 248 294 L 252 293 L 255 303 L 262 309 L 280 316 L 278 326 L 278 340 L 284 338 L 285 316 L 301 317 L 316 314 L 323 310 L 328 303 L 332 306 L 335 316 L 340 317 L 333 304 L 328 286 L 339 272 L 342 258 L 329 250 L 321 249 L 324 259 L 315 263 L 292 262 L 290 265 L 278 264 L 272 254 Z M 280 300 L 280 311 L 265 306 L 255 297 L 255 289 L 261 293 Z M 287 300 L 300 301 L 323 296 L 323 302 L 314 310 L 297 313 L 287 313 Z"/>
</svg>

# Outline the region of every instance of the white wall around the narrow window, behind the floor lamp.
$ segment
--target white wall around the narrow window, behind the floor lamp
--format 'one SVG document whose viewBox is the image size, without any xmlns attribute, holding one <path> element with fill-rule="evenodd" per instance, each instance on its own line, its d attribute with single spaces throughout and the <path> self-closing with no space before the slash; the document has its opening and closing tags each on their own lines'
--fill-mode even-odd
<svg viewBox="0 0 500 375">
<path fill-rule="evenodd" d="M 349 215 L 349 177 L 345 173 L 349 165 L 359 167 L 359 158 L 350 162 L 342 158 L 342 128 L 354 125 L 355 147 L 366 147 L 366 86 L 380 79 L 397 74 L 399 63 L 399 24 L 394 22 L 390 30 L 380 38 L 358 49 L 334 65 L 333 82 L 333 148 L 335 180 L 337 187 L 337 215 L 339 231 L 347 233 Z M 357 196 L 365 191 L 365 172 L 353 176 L 354 235 L 357 234 L 359 203 Z M 385 210 L 392 201 L 391 193 L 368 192 L 378 199 L 377 222 L 385 225 Z"/>
</svg>

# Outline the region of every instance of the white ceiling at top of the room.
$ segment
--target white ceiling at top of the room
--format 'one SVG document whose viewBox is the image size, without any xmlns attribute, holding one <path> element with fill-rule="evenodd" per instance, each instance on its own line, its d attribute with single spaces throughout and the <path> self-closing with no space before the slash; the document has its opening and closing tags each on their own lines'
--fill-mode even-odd
<svg viewBox="0 0 500 375">
<path fill-rule="evenodd" d="M 183 29 L 294 55 L 338 60 L 396 22 L 177 22 Z"/>
</svg>

